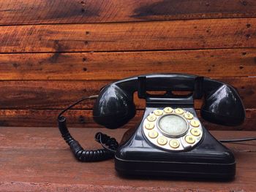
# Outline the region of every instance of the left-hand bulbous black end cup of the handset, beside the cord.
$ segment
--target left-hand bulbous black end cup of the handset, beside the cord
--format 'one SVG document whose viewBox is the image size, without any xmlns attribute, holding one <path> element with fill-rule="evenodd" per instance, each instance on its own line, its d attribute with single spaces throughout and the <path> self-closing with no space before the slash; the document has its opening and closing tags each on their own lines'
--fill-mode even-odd
<svg viewBox="0 0 256 192">
<path fill-rule="evenodd" d="M 115 83 L 102 89 L 93 110 L 94 121 L 106 128 L 123 126 L 135 113 L 133 93 L 119 88 Z"/>
</svg>

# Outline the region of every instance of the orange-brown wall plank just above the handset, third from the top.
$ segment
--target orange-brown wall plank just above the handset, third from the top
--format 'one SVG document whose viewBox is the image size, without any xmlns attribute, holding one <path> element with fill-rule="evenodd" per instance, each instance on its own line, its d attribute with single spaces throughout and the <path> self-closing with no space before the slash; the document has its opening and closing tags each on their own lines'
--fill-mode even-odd
<svg viewBox="0 0 256 192">
<path fill-rule="evenodd" d="M 150 73 L 256 74 L 256 49 L 0 55 L 0 80 L 113 80 Z"/>
</svg>

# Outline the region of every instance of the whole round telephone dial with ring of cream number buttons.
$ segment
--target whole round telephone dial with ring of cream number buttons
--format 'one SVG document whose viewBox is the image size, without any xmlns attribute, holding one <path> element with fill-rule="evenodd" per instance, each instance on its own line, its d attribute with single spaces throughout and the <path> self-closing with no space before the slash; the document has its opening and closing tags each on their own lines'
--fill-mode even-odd
<svg viewBox="0 0 256 192">
<path fill-rule="evenodd" d="M 143 120 L 143 135 L 157 147 L 181 151 L 200 142 L 203 128 L 195 114 L 165 107 L 150 112 Z"/>
</svg>

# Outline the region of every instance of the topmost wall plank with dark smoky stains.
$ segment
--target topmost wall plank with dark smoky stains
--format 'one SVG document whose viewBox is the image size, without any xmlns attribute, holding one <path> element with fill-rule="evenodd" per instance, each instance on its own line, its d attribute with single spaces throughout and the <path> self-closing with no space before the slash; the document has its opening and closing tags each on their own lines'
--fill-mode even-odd
<svg viewBox="0 0 256 192">
<path fill-rule="evenodd" d="M 253 18 L 255 12 L 253 0 L 10 0 L 1 1 L 0 25 Z"/>
</svg>

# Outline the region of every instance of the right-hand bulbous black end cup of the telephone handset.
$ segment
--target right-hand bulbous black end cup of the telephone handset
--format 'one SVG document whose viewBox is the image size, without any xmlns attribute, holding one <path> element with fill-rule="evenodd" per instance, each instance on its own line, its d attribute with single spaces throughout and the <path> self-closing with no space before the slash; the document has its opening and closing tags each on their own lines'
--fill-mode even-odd
<svg viewBox="0 0 256 192">
<path fill-rule="evenodd" d="M 203 119 L 225 126 L 238 126 L 244 122 L 244 105 L 235 88 L 206 78 L 204 90 L 205 100 L 201 108 Z"/>
</svg>

